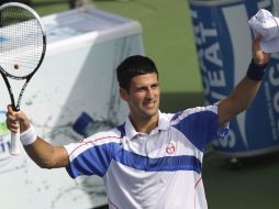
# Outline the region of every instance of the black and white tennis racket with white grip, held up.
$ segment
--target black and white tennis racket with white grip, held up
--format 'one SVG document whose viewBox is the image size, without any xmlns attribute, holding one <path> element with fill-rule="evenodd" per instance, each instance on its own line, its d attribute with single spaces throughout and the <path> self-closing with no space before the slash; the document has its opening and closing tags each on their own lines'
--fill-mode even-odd
<svg viewBox="0 0 279 209">
<path fill-rule="evenodd" d="M 8 88 L 14 111 L 20 110 L 23 92 L 41 66 L 46 51 L 46 34 L 38 14 L 30 7 L 11 2 L 0 7 L 0 73 Z M 18 102 L 11 80 L 25 80 Z M 15 90 L 15 89 L 14 89 Z M 19 132 L 11 132 L 10 153 L 20 154 Z"/>
</svg>

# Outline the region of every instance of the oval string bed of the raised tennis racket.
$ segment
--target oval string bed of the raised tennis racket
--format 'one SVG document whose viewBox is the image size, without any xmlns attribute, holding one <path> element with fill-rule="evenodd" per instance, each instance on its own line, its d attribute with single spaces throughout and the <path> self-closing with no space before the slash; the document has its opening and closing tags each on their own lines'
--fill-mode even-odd
<svg viewBox="0 0 279 209">
<path fill-rule="evenodd" d="M 18 7 L 0 11 L 0 66 L 15 77 L 36 69 L 44 51 L 43 32 L 34 15 Z"/>
</svg>

